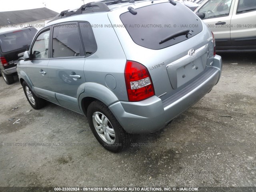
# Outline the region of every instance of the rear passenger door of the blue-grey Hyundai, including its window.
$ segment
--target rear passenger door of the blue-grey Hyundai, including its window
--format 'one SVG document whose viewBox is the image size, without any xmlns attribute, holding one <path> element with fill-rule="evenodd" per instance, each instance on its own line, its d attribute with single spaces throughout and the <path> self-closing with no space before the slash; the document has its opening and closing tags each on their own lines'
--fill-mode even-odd
<svg viewBox="0 0 256 192">
<path fill-rule="evenodd" d="M 85 82 L 85 53 L 77 22 L 52 26 L 51 58 L 48 78 L 59 104 L 70 110 L 81 112 L 77 91 Z"/>
</svg>

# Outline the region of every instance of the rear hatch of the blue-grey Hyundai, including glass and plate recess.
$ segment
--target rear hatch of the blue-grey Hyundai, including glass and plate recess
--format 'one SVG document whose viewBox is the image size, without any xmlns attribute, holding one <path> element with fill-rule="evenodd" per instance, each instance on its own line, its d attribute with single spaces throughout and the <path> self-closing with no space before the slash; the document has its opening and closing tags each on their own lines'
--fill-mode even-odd
<svg viewBox="0 0 256 192">
<path fill-rule="evenodd" d="M 130 7 L 132 12 L 120 11 L 122 27 L 115 27 L 119 24 L 115 14 L 108 16 L 127 60 L 148 68 L 156 96 L 165 100 L 202 76 L 213 56 L 213 43 L 210 30 L 198 16 L 179 2 L 176 6 L 154 1 Z"/>
</svg>

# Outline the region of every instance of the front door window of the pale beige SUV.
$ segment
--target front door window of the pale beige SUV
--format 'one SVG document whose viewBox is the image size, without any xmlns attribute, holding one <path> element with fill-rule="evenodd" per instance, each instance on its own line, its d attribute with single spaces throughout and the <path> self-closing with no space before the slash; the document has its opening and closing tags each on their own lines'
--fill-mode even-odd
<svg viewBox="0 0 256 192">
<path fill-rule="evenodd" d="M 204 19 L 228 16 L 232 0 L 209 0 L 200 8 L 199 13 L 204 13 Z"/>
</svg>

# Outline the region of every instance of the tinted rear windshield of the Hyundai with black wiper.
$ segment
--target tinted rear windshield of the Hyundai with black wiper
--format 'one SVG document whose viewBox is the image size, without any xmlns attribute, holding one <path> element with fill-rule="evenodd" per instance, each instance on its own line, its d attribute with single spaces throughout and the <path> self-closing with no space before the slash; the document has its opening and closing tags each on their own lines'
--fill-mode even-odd
<svg viewBox="0 0 256 192">
<path fill-rule="evenodd" d="M 165 2 L 135 10 L 137 14 L 125 12 L 120 15 L 120 19 L 132 40 L 149 49 L 172 46 L 195 36 L 203 29 L 200 19 L 179 2 L 176 6 Z M 184 34 L 186 32 L 190 34 Z M 174 34 L 176 37 L 172 38 Z M 166 40 L 167 37 L 169 40 Z"/>
</svg>

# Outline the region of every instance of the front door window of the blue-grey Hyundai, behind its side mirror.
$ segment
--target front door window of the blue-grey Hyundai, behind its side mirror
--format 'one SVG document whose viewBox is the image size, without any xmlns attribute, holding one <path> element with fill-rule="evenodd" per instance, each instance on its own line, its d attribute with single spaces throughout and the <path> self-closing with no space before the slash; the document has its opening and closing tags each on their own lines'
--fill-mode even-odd
<svg viewBox="0 0 256 192">
<path fill-rule="evenodd" d="M 48 58 L 48 45 L 49 45 L 50 29 L 42 32 L 35 40 L 32 47 L 32 58 L 46 59 Z"/>
</svg>

